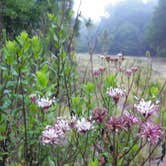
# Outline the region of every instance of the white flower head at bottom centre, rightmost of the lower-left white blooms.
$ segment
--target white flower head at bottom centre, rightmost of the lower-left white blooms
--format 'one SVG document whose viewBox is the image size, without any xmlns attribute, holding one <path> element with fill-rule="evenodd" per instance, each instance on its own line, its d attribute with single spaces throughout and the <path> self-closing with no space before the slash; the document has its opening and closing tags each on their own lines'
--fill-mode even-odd
<svg viewBox="0 0 166 166">
<path fill-rule="evenodd" d="M 93 124 L 85 118 L 82 118 L 81 120 L 77 120 L 76 129 L 78 132 L 86 132 L 93 129 Z"/>
</svg>

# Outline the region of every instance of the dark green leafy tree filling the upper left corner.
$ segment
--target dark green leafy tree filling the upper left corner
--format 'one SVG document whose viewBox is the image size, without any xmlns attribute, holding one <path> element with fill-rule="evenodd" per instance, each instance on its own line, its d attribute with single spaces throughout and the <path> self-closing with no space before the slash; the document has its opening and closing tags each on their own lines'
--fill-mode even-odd
<svg viewBox="0 0 166 166">
<path fill-rule="evenodd" d="M 44 9 L 43 1 L 1 0 L 1 25 L 10 38 L 23 30 L 31 32 L 37 28 Z"/>
</svg>

